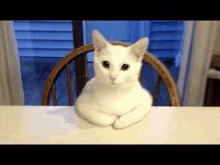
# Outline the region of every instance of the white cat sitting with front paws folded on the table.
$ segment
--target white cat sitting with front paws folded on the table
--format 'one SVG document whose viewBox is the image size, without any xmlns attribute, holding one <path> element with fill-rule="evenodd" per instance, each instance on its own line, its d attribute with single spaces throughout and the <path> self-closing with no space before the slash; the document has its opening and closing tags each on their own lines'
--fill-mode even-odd
<svg viewBox="0 0 220 165">
<path fill-rule="evenodd" d="M 141 121 L 152 106 L 150 93 L 138 77 L 148 38 L 129 47 L 114 46 L 93 31 L 95 77 L 76 101 L 77 113 L 87 121 L 116 129 Z"/>
</svg>

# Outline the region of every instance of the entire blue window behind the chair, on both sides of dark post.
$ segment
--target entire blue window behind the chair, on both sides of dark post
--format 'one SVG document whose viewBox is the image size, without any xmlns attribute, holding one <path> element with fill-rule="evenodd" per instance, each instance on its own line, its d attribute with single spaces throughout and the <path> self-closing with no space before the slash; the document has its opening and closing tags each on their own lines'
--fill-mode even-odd
<svg viewBox="0 0 220 165">
<path fill-rule="evenodd" d="M 26 105 L 40 105 L 46 78 L 56 63 L 73 47 L 72 21 L 14 21 L 21 62 L 21 74 Z M 183 44 L 183 21 L 84 21 L 84 43 L 92 42 L 92 31 L 99 30 L 109 41 L 134 43 L 141 37 L 149 37 L 148 51 L 153 53 L 178 78 L 176 60 Z M 89 79 L 94 76 L 93 53 L 87 54 Z M 144 65 L 144 86 L 152 93 L 156 74 Z M 66 86 L 66 84 L 60 84 Z M 161 92 L 163 92 L 163 85 Z M 164 89 L 165 90 L 165 89 Z M 58 99 L 59 105 L 68 105 L 68 99 Z M 67 96 L 66 96 L 67 97 Z M 167 96 L 161 94 L 158 105 L 167 104 Z"/>
</svg>

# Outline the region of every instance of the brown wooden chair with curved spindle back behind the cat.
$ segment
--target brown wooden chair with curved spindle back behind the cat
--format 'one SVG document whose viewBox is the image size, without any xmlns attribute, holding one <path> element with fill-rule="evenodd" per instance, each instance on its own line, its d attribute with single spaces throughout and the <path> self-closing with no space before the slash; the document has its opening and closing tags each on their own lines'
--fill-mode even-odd
<svg viewBox="0 0 220 165">
<path fill-rule="evenodd" d="M 121 42 L 121 41 L 110 41 L 113 45 L 122 45 L 124 47 L 129 46 L 130 44 Z M 83 45 L 81 47 L 78 47 L 74 49 L 72 52 L 67 54 L 64 58 L 62 58 L 59 63 L 54 67 L 54 69 L 51 71 L 42 94 L 42 99 L 41 99 L 41 104 L 42 105 L 49 105 L 50 101 L 50 96 L 52 95 L 53 98 L 53 105 L 57 105 L 57 99 L 56 99 L 56 93 L 55 93 L 55 81 L 58 75 L 66 69 L 67 72 L 67 81 L 68 81 L 68 96 L 69 96 L 69 106 L 73 105 L 73 92 L 72 92 L 72 82 L 71 82 L 71 74 L 70 74 L 70 62 L 78 58 L 79 56 L 85 55 L 85 53 L 94 51 L 93 44 L 88 44 L 88 45 Z M 161 83 L 161 80 L 164 82 L 165 87 L 168 89 L 168 94 L 170 98 L 170 106 L 181 106 L 181 101 L 180 101 L 180 96 L 177 90 L 176 83 L 169 72 L 169 70 L 166 68 L 166 66 L 158 60 L 155 56 L 152 54 L 149 54 L 148 52 L 145 53 L 143 62 L 147 62 L 159 75 L 158 79 L 156 81 L 156 87 L 154 90 L 153 94 L 153 99 L 154 99 L 154 104 L 156 105 L 156 101 L 159 95 L 159 85 Z M 86 67 L 86 64 L 83 64 L 82 66 L 77 66 L 78 68 L 80 67 Z M 82 85 L 80 86 L 80 89 L 76 89 L 78 92 L 77 96 L 79 93 L 82 91 L 86 81 L 88 80 L 88 74 L 86 72 L 86 68 L 84 69 L 84 75 L 78 75 L 76 77 L 76 82 L 81 83 Z M 141 78 L 141 77 L 140 77 Z M 75 100 L 76 101 L 76 100 Z"/>
</svg>

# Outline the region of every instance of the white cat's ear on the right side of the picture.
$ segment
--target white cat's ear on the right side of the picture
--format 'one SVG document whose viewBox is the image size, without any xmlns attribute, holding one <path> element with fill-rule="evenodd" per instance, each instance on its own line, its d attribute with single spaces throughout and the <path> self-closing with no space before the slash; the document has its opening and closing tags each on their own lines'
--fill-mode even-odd
<svg viewBox="0 0 220 165">
<path fill-rule="evenodd" d="M 130 46 L 131 54 L 135 55 L 136 59 L 142 60 L 146 49 L 148 48 L 149 38 L 145 37 L 138 40 L 136 43 Z"/>
</svg>

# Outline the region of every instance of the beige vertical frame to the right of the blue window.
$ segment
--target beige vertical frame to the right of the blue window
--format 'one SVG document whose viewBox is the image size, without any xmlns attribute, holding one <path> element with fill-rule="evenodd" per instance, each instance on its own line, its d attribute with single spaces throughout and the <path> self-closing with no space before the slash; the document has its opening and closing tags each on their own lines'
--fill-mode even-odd
<svg viewBox="0 0 220 165">
<path fill-rule="evenodd" d="M 178 88 L 184 106 L 203 106 L 218 21 L 186 21 Z"/>
</svg>

